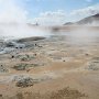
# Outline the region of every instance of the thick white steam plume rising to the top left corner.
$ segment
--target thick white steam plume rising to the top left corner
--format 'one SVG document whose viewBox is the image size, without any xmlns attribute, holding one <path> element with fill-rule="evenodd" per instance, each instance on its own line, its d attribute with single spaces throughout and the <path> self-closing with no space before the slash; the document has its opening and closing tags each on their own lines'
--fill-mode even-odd
<svg viewBox="0 0 99 99">
<path fill-rule="evenodd" d="M 28 12 L 16 3 L 18 1 L 0 0 L 0 36 L 44 36 L 43 31 L 26 24 Z"/>
</svg>

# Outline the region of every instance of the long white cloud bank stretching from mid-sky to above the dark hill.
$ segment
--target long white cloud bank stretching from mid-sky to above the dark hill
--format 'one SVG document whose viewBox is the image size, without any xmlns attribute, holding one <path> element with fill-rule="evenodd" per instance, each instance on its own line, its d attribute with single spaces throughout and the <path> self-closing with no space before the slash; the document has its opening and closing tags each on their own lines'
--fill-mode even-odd
<svg viewBox="0 0 99 99">
<path fill-rule="evenodd" d="M 97 14 L 97 13 L 99 13 L 99 4 L 95 4 L 79 10 L 74 10 L 69 13 L 66 13 L 66 11 L 64 10 L 47 11 L 47 12 L 40 13 L 40 16 L 32 19 L 30 21 L 33 23 L 38 22 L 40 24 L 58 25 L 69 21 L 78 21 L 80 19 L 84 19 L 92 14 Z"/>
</svg>

